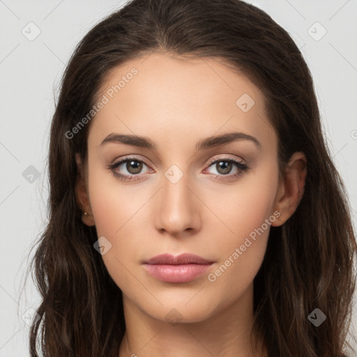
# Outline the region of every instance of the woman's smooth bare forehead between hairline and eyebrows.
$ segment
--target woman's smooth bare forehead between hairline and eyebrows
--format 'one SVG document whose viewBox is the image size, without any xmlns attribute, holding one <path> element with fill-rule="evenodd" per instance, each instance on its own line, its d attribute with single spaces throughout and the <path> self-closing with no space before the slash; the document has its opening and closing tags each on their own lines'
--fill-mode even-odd
<svg viewBox="0 0 357 357">
<path fill-rule="evenodd" d="M 233 130 L 275 145 L 263 93 L 219 59 L 146 54 L 107 73 L 98 100 L 104 97 L 89 132 L 96 145 L 111 132 L 153 138 L 165 132 L 161 142 L 182 145 Z"/>
</svg>

